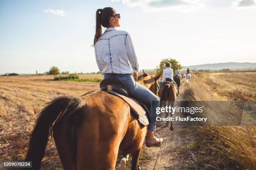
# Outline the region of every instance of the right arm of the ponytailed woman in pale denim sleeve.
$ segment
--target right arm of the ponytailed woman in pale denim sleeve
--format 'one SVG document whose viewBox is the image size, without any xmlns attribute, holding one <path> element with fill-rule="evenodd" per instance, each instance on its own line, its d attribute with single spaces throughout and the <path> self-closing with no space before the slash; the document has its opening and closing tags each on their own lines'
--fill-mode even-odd
<svg viewBox="0 0 256 170">
<path fill-rule="evenodd" d="M 133 42 L 132 42 L 131 36 L 128 32 L 127 32 L 127 37 L 125 40 L 125 50 L 126 50 L 126 54 L 128 56 L 128 59 L 131 64 L 133 72 L 138 73 L 138 71 L 139 71 L 138 58 L 135 54 Z"/>
</svg>

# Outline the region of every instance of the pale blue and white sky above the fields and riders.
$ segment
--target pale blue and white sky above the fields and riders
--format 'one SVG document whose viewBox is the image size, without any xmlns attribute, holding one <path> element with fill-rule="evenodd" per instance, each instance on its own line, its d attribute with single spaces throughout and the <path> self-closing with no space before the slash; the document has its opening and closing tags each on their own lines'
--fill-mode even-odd
<svg viewBox="0 0 256 170">
<path fill-rule="evenodd" d="M 91 45 L 104 7 L 120 13 L 141 69 L 169 57 L 256 62 L 256 0 L 0 0 L 0 74 L 99 71 Z"/>
</svg>

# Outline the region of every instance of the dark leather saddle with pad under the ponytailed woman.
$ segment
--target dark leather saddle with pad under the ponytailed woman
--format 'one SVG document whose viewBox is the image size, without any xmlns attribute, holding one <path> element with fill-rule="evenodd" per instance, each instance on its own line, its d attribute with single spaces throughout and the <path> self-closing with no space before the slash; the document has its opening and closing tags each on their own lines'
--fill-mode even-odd
<svg viewBox="0 0 256 170">
<path fill-rule="evenodd" d="M 150 123 L 150 113 L 147 105 L 140 100 L 136 100 L 129 95 L 126 85 L 116 78 L 105 78 L 100 82 L 100 91 L 105 91 L 124 100 L 131 109 L 131 114 L 141 123 L 148 125 Z"/>
</svg>

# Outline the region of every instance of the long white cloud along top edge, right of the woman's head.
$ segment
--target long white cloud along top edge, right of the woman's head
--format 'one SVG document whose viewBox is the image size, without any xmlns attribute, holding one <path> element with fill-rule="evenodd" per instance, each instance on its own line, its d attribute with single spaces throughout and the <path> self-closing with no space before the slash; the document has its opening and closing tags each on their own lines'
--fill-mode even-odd
<svg viewBox="0 0 256 170">
<path fill-rule="evenodd" d="M 191 11 L 203 7 L 203 0 L 111 0 L 112 2 L 122 2 L 128 7 L 140 7 L 146 11 L 155 10 L 179 10 Z"/>
</svg>

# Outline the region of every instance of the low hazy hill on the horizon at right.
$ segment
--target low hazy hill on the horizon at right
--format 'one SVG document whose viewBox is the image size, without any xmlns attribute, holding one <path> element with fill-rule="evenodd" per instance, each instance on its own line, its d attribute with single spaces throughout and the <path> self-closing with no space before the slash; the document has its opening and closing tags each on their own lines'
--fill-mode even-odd
<svg viewBox="0 0 256 170">
<path fill-rule="evenodd" d="M 189 65 L 182 67 L 182 70 L 256 70 L 256 62 L 222 62 L 214 64 Z"/>
</svg>

